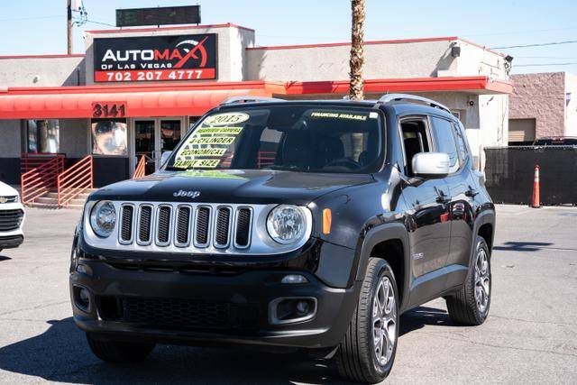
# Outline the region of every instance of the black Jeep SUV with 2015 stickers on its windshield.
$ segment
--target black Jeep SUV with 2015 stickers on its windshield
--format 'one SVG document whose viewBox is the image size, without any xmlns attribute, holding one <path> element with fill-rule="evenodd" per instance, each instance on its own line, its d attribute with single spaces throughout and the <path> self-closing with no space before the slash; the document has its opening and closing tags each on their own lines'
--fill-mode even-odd
<svg viewBox="0 0 577 385">
<path fill-rule="evenodd" d="M 239 97 L 166 155 L 77 228 L 74 320 L 99 358 L 251 344 L 378 382 L 401 313 L 443 297 L 456 323 L 487 317 L 495 210 L 444 105 Z"/>
</svg>

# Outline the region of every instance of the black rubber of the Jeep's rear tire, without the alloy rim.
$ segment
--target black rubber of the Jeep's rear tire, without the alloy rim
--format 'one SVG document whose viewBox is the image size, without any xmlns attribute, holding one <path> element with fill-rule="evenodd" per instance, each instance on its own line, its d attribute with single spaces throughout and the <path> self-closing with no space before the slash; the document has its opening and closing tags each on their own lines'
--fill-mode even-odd
<svg viewBox="0 0 577 385">
<path fill-rule="evenodd" d="M 478 303 L 477 298 L 475 298 L 475 289 L 477 283 L 475 280 L 475 269 L 480 258 L 480 253 L 484 252 L 487 260 L 487 273 L 489 281 L 487 285 L 481 285 L 479 289 L 481 290 L 481 296 L 486 297 L 486 305 L 482 306 L 483 301 L 481 300 L 481 305 Z M 481 236 L 477 236 L 475 240 L 475 248 L 472 256 L 471 266 L 469 272 L 467 273 L 467 278 L 463 285 L 463 288 L 457 291 L 455 294 L 445 298 L 447 303 L 447 309 L 449 311 L 449 316 L 455 324 L 460 325 L 481 325 L 487 319 L 489 315 L 490 308 L 490 295 L 491 295 L 491 274 L 490 274 L 490 251 L 489 246 Z M 483 287 L 488 289 L 483 289 Z M 485 294 L 486 293 L 486 294 Z"/>
</svg>

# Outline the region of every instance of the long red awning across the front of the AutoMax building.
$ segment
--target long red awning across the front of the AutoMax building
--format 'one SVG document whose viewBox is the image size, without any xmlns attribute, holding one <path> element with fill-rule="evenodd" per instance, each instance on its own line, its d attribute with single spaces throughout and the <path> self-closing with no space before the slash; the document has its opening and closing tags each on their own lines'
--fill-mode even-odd
<svg viewBox="0 0 577 385">
<path fill-rule="evenodd" d="M 132 86 L 20 87 L 0 91 L 0 119 L 89 118 L 94 103 L 124 102 L 126 116 L 203 115 L 230 96 L 347 94 L 348 80 L 206 82 Z M 513 85 L 487 77 L 365 80 L 365 93 L 460 91 L 510 94 Z"/>
</svg>

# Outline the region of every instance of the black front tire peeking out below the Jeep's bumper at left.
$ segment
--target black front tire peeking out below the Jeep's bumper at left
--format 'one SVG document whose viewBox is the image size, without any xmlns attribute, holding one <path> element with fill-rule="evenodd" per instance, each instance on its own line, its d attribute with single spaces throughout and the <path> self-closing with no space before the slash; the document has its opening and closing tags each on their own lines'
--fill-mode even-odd
<svg viewBox="0 0 577 385">
<path fill-rule="evenodd" d="M 134 344 L 120 341 L 98 340 L 87 334 L 92 353 L 105 362 L 142 362 L 154 349 L 155 344 Z"/>
</svg>

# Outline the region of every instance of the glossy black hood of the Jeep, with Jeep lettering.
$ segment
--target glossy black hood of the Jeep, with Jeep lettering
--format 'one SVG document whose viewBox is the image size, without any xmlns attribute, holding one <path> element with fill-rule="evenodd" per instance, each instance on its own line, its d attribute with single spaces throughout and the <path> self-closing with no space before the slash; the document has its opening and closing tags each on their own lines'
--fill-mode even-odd
<svg viewBox="0 0 577 385">
<path fill-rule="evenodd" d="M 371 175 L 278 170 L 158 171 L 97 190 L 91 200 L 304 205 L 340 188 L 371 183 Z"/>
</svg>

